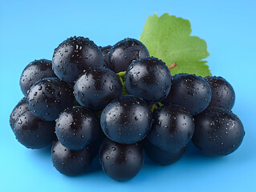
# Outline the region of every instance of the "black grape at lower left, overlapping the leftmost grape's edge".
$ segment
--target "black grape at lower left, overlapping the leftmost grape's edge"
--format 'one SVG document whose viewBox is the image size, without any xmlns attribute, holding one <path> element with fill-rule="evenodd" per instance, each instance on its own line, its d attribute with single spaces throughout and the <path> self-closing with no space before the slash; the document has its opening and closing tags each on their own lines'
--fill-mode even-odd
<svg viewBox="0 0 256 192">
<path fill-rule="evenodd" d="M 46 122 L 27 110 L 14 122 L 14 134 L 23 146 L 40 149 L 55 140 L 55 122 Z"/>
</svg>

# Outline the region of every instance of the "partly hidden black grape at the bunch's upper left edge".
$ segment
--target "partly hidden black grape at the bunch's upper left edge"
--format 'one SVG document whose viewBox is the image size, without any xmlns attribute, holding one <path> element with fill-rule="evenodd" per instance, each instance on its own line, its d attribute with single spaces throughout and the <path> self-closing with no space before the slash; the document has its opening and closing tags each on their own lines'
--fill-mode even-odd
<svg viewBox="0 0 256 192">
<path fill-rule="evenodd" d="M 30 87 L 43 78 L 56 78 L 52 70 L 51 61 L 40 59 L 30 62 L 23 70 L 19 80 L 22 93 L 27 97 Z"/>
</svg>

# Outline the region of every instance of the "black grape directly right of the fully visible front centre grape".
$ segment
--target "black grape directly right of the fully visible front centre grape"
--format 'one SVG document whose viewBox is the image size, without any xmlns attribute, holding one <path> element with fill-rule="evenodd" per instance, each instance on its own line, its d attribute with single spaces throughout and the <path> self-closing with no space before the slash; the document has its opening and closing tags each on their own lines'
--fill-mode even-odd
<svg viewBox="0 0 256 192">
<path fill-rule="evenodd" d="M 169 104 L 154 110 L 147 139 L 161 150 L 178 150 L 188 145 L 194 122 L 184 107 Z"/>
</svg>

